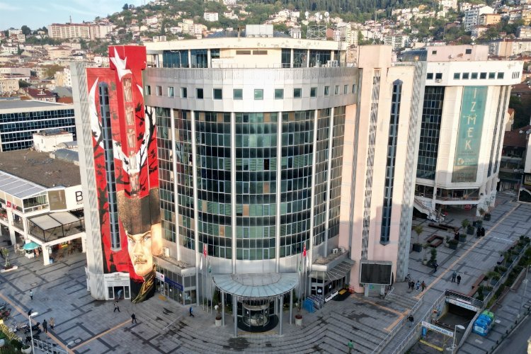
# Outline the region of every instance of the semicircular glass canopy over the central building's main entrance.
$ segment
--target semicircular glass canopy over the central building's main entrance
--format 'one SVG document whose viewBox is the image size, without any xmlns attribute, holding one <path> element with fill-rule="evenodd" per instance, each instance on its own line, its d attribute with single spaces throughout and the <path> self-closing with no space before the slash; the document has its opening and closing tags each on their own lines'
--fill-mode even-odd
<svg viewBox="0 0 531 354">
<path fill-rule="evenodd" d="M 240 298 L 277 297 L 299 285 L 297 273 L 259 273 L 214 275 L 219 290 Z"/>
</svg>

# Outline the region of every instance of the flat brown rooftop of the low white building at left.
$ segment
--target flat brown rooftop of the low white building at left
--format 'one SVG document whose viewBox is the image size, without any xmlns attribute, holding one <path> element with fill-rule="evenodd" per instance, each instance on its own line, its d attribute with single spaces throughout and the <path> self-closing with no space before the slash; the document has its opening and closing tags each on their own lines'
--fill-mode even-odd
<svg viewBox="0 0 531 354">
<path fill-rule="evenodd" d="M 52 188 L 57 185 L 72 187 L 81 184 L 79 166 L 50 158 L 45 152 L 14 150 L 1 152 L 0 171 L 18 178 Z"/>
</svg>

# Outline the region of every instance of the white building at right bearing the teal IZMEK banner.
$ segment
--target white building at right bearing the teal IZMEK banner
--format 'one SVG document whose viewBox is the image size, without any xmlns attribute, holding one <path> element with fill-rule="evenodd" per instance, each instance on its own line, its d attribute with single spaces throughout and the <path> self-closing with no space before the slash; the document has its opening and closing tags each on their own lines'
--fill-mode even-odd
<svg viewBox="0 0 531 354">
<path fill-rule="evenodd" d="M 432 219 L 449 208 L 489 210 L 511 85 L 520 82 L 523 62 L 489 60 L 482 45 L 437 47 L 430 57 L 433 50 L 408 55 L 427 62 L 415 207 Z"/>
</svg>

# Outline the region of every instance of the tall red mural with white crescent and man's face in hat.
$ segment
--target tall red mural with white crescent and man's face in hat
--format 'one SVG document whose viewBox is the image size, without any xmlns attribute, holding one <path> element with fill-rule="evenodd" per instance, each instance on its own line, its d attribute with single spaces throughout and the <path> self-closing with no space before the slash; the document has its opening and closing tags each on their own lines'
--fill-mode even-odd
<svg viewBox="0 0 531 354">
<path fill-rule="evenodd" d="M 130 275 L 137 303 L 154 294 L 162 251 L 155 117 L 144 108 L 145 47 L 109 47 L 109 58 L 87 69 L 103 268 Z"/>
</svg>

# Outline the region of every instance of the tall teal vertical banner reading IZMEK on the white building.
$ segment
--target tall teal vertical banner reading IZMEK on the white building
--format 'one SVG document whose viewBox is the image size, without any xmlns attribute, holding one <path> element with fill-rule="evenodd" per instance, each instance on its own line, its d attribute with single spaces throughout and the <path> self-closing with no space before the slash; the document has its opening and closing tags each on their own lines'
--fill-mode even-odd
<svg viewBox="0 0 531 354">
<path fill-rule="evenodd" d="M 486 86 L 467 86 L 463 89 L 452 182 L 476 181 L 486 93 Z"/>
</svg>

